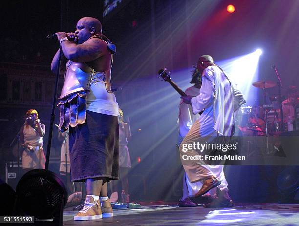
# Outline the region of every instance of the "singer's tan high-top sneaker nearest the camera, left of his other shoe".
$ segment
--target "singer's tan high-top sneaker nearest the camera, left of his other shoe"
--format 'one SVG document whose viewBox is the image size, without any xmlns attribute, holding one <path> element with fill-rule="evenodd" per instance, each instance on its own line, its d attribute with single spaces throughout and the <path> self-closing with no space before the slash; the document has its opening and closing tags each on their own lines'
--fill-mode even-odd
<svg viewBox="0 0 299 226">
<path fill-rule="evenodd" d="M 101 204 L 99 200 L 94 201 L 92 196 L 86 195 L 84 207 L 74 217 L 75 221 L 87 221 L 102 218 Z"/>
</svg>

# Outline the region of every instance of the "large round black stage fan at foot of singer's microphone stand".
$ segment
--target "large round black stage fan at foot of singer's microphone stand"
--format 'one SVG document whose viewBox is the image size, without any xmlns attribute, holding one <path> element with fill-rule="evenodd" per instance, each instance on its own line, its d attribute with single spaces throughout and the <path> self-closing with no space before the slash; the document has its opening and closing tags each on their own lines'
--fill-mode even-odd
<svg viewBox="0 0 299 226">
<path fill-rule="evenodd" d="M 17 205 L 30 216 L 51 219 L 62 224 L 63 208 L 67 202 L 67 190 L 60 178 L 45 169 L 34 169 L 20 179 L 17 189 Z"/>
</svg>

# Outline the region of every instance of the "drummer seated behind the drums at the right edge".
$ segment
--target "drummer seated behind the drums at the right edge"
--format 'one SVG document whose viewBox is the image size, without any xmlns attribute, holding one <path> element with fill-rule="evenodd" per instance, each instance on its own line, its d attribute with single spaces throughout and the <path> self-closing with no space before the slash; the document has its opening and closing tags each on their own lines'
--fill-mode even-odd
<svg viewBox="0 0 299 226">
<path fill-rule="evenodd" d="M 298 104 L 298 90 L 296 87 L 291 87 L 287 92 L 288 98 L 282 102 L 283 122 L 293 121 L 295 119 L 294 106 Z"/>
</svg>

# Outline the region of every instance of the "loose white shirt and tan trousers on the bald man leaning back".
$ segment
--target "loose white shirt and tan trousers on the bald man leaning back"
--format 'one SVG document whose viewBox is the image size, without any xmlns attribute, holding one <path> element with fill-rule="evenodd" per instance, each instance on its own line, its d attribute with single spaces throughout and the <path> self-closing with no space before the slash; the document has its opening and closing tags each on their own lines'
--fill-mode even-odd
<svg viewBox="0 0 299 226">
<path fill-rule="evenodd" d="M 202 110 L 204 112 L 180 144 L 181 160 L 183 154 L 187 156 L 198 154 L 196 150 L 183 152 L 182 144 L 193 142 L 204 144 L 217 136 L 230 137 L 234 129 L 234 109 L 238 109 L 245 100 L 219 67 L 209 66 L 203 72 L 200 94 L 193 97 L 191 102 L 193 114 L 198 114 Z M 211 166 L 203 160 L 182 160 L 182 164 L 191 183 L 216 176 L 221 180 L 218 188 L 227 189 L 223 165 Z"/>
</svg>

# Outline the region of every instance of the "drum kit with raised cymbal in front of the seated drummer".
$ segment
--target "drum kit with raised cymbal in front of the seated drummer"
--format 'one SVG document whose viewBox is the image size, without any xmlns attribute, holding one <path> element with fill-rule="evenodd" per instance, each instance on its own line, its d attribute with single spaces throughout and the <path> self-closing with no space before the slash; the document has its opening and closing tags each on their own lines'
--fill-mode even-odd
<svg viewBox="0 0 299 226">
<path fill-rule="evenodd" d="M 272 104 L 266 104 L 266 90 L 275 87 L 277 83 L 273 81 L 257 81 L 252 85 L 256 88 L 263 89 L 265 104 L 243 106 L 240 108 L 235 118 L 235 124 L 240 129 L 242 135 L 279 136 L 282 132 L 290 131 L 290 127 L 287 123 L 282 123 L 281 108 L 275 109 L 274 107 L 274 103 L 279 101 L 279 97 L 271 97 L 270 101 L 272 101 Z M 284 104 L 295 108 L 296 105 L 299 105 L 299 97 L 295 98 L 293 102 Z"/>
</svg>

